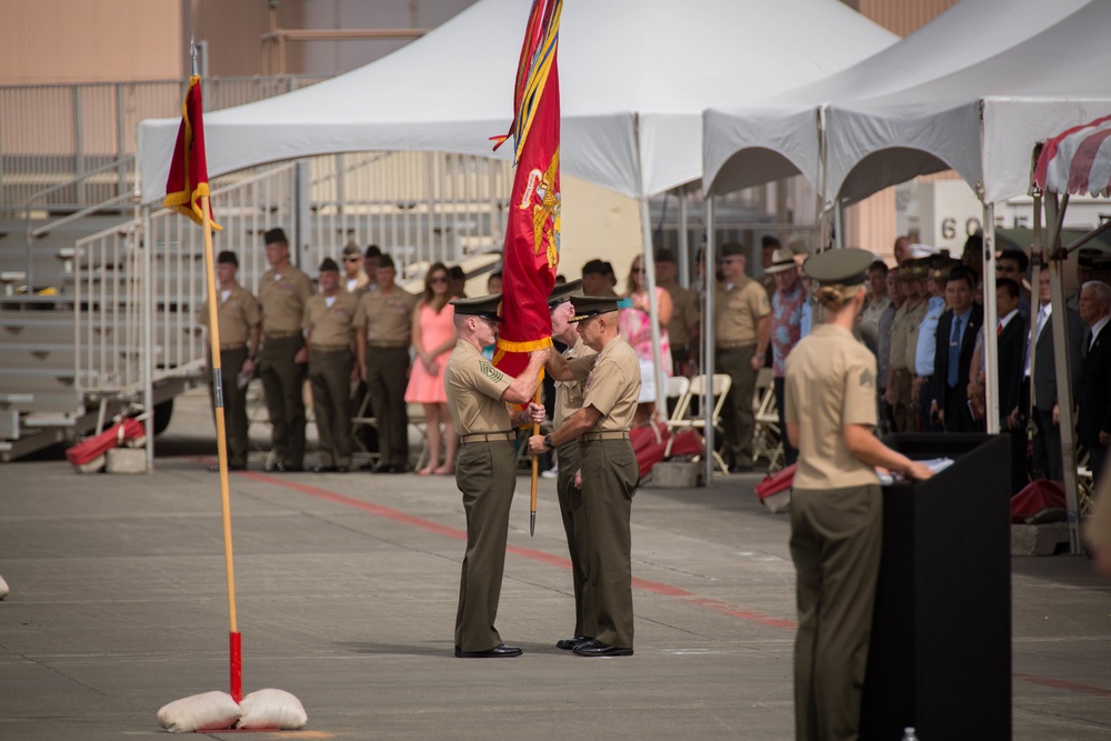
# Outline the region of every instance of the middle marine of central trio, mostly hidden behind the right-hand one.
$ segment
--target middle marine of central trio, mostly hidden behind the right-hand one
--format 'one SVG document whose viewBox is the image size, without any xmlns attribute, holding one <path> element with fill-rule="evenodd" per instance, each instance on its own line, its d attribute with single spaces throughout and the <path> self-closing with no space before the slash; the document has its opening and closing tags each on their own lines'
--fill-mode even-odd
<svg viewBox="0 0 1111 741">
<path fill-rule="evenodd" d="M 582 299 L 581 280 L 573 280 L 563 286 L 557 286 L 548 299 L 552 318 L 552 339 L 568 346 L 563 358 L 573 360 L 595 354 L 579 337 L 578 324 L 572 323 L 574 302 Z M 556 381 L 556 413 L 552 423 L 559 429 L 582 409 L 582 384 L 575 380 Z M 556 493 L 559 498 L 559 511 L 563 519 L 563 532 L 567 534 L 567 549 L 571 558 L 571 587 L 574 594 L 574 632 L 572 638 L 560 639 L 556 648 L 570 651 L 577 645 L 590 640 L 598 632 L 594 624 L 592 608 L 584 603 L 587 591 L 585 563 L 589 558 L 585 552 L 585 520 L 582 505 L 582 490 L 574 484 L 574 474 L 581 462 L 579 440 L 568 440 L 556 448 L 559 461 L 559 477 L 556 480 Z"/>
</svg>

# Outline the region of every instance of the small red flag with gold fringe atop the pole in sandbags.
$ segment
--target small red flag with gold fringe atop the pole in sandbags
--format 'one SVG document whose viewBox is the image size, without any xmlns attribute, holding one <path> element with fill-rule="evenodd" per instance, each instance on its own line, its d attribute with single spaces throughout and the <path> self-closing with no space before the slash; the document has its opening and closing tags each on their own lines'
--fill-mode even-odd
<svg viewBox="0 0 1111 741">
<path fill-rule="evenodd" d="M 170 174 L 166 178 L 166 200 L 162 206 L 183 213 L 197 223 L 204 222 L 201 197 L 209 194 L 208 162 L 204 159 L 204 122 L 201 119 L 201 77 L 189 78 L 189 90 L 181 103 L 181 127 L 173 144 Z M 212 219 L 211 204 L 209 219 Z M 212 229 L 220 230 L 216 221 Z"/>
</svg>

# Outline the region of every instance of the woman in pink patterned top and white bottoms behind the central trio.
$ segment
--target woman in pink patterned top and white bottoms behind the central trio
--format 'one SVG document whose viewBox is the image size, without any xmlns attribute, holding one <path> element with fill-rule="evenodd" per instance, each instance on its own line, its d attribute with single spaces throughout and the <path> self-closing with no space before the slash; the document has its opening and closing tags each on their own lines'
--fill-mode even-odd
<svg viewBox="0 0 1111 741">
<path fill-rule="evenodd" d="M 655 414 L 655 363 L 652 358 L 652 320 L 648 313 L 648 287 L 644 283 L 644 263 L 641 257 L 632 261 L 629 270 L 628 292 L 631 309 L 622 309 L 618 319 L 621 337 L 632 346 L 640 359 L 640 397 L 637 399 L 634 424 L 648 424 Z M 660 362 L 663 374 L 671 375 L 671 343 L 668 341 L 668 322 L 671 321 L 671 294 L 655 287 L 655 309 L 660 320 Z"/>
</svg>

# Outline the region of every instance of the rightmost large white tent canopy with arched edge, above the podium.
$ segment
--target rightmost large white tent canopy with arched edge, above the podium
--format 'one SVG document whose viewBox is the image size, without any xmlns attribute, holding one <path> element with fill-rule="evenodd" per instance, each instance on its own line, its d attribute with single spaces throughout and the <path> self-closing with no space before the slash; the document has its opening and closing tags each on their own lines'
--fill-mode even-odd
<svg viewBox="0 0 1111 741">
<path fill-rule="evenodd" d="M 1027 192 L 1038 141 L 1111 113 L 1111 3 L 1091 2 L 979 63 L 827 111 L 829 198 L 952 168 L 985 203 Z"/>
</svg>

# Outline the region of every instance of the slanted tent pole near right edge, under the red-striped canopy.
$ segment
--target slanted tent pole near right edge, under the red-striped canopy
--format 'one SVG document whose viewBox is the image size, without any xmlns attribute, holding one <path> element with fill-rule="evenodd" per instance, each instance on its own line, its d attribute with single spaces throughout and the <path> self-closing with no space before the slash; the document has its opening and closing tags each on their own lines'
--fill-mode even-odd
<svg viewBox="0 0 1111 741">
<path fill-rule="evenodd" d="M 1045 222 L 1050 227 L 1047 246 L 1050 253 L 1049 284 L 1053 313 L 1053 363 L 1057 367 L 1057 403 L 1061 414 L 1061 464 L 1064 469 L 1064 505 L 1069 522 L 1069 552 L 1080 553 L 1080 505 L 1077 483 L 1075 420 L 1072 413 L 1072 374 L 1069 359 L 1069 329 L 1064 310 L 1064 260 L 1061 250 L 1061 223 L 1067 202 L 1058 207 L 1057 194 L 1045 193 Z"/>
</svg>

